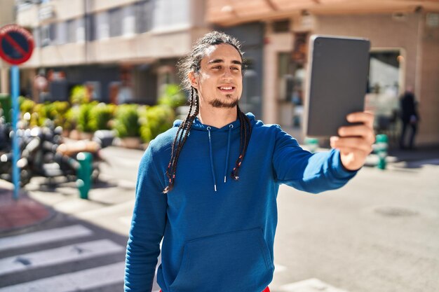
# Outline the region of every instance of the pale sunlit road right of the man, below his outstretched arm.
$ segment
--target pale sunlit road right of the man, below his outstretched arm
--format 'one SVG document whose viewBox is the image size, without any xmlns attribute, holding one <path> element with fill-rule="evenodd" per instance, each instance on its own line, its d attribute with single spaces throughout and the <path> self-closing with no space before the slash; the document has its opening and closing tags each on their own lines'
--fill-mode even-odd
<svg viewBox="0 0 439 292">
<path fill-rule="evenodd" d="M 439 291 L 439 167 L 364 168 L 339 190 L 278 195 L 273 291 L 318 278 L 351 292 Z"/>
</svg>

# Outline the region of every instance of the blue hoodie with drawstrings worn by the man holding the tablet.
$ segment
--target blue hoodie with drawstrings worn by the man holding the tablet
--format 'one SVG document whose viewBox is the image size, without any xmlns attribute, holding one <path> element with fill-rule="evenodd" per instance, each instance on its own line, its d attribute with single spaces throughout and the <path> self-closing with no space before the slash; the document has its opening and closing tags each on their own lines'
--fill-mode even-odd
<svg viewBox="0 0 439 292">
<path fill-rule="evenodd" d="M 276 197 L 281 183 L 310 193 L 340 188 L 356 172 L 339 152 L 304 151 L 278 125 L 252 124 L 239 179 L 230 173 L 240 148 L 240 122 L 222 128 L 194 121 L 167 195 L 166 169 L 177 127 L 151 141 L 140 162 L 126 253 L 125 291 L 259 292 L 273 278 Z"/>
</svg>

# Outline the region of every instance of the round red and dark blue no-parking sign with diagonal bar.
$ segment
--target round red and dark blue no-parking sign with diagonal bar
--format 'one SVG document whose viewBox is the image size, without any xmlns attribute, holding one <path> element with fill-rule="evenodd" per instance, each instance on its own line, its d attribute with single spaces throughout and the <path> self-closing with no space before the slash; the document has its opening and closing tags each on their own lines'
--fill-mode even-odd
<svg viewBox="0 0 439 292">
<path fill-rule="evenodd" d="M 18 65 L 29 60 L 34 50 L 32 34 L 19 25 L 0 28 L 0 57 L 9 64 Z"/>
</svg>

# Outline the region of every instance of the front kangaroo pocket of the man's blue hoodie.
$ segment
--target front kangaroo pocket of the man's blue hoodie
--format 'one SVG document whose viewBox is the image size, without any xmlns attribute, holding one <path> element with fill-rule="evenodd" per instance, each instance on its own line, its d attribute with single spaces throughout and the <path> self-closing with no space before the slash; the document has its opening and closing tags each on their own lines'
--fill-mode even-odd
<svg viewBox="0 0 439 292">
<path fill-rule="evenodd" d="M 233 287 L 234 291 L 257 291 L 259 284 L 268 284 L 272 276 L 273 263 L 262 229 L 252 228 L 186 242 L 170 289 L 229 292 Z"/>
</svg>

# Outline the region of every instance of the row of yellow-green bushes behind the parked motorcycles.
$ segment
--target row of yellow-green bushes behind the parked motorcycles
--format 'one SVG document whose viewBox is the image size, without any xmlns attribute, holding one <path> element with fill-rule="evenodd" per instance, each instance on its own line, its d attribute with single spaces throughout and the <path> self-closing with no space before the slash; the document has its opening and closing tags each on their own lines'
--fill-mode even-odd
<svg viewBox="0 0 439 292">
<path fill-rule="evenodd" d="M 115 105 L 87 102 L 86 88 L 76 86 L 70 100 L 36 104 L 20 97 L 20 110 L 22 114 L 31 114 L 31 126 L 43 126 L 47 120 L 52 120 L 55 126 L 65 130 L 95 132 L 114 129 L 119 137 L 140 137 L 149 142 L 172 127 L 175 108 L 186 102 L 186 96 L 178 85 L 166 85 L 156 106 Z"/>
</svg>

